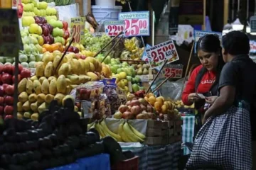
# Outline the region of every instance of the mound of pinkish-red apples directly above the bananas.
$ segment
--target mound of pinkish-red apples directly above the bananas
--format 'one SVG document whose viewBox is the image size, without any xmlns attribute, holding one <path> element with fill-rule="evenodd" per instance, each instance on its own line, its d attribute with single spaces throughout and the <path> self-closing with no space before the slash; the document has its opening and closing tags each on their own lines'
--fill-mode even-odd
<svg viewBox="0 0 256 170">
<path fill-rule="evenodd" d="M 114 118 L 120 119 L 156 119 L 154 108 L 144 98 L 133 98 L 119 106 Z"/>
</svg>

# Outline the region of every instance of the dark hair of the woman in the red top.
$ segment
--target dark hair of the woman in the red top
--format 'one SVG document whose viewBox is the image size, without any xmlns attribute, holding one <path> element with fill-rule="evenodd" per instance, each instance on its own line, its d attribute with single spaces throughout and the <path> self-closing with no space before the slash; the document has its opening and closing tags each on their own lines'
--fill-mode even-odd
<svg viewBox="0 0 256 170">
<path fill-rule="evenodd" d="M 220 39 L 218 35 L 214 34 L 207 34 L 203 37 L 199 38 L 198 42 L 196 43 L 196 51 L 202 50 L 203 52 L 218 52 L 218 66 L 216 68 L 216 80 L 213 85 L 218 84 L 218 81 L 220 79 L 220 72 L 223 69 L 223 66 L 225 64 L 221 52 L 221 46 L 220 46 Z M 206 68 L 203 67 L 203 74 L 208 72 Z"/>
</svg>

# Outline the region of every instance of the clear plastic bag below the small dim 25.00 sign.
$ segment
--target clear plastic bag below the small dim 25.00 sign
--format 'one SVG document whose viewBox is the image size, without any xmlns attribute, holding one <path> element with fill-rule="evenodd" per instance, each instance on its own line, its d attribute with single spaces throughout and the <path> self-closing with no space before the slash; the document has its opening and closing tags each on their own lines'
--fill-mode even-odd
<svg viewBox="0 0 256 170">
<path fill-rule="evenodd" d="M 165 98 L 169 97 L 174 101 L 181 100 L 181 94 L 182 94 L 181 88 L 183 86 L 183 81 L 184 81 L 184 78 L 179 79 L 177 81 L 166 81 L 166 83 L 163 84 L 163 86 L 161 86 L 159 90 L 161 93 L 161 96 L 164 96 Z M 185 86 L 186 86 L 186 83 L 185 83 Z"/>
</svg>

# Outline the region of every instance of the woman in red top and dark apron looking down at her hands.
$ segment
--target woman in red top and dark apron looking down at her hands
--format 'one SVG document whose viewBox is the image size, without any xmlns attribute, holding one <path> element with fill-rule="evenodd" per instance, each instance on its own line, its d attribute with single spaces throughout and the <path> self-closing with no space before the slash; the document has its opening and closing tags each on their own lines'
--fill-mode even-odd
<svg viewBox="0 0 256 170">
<path fill-rule="evenodd" d="M 186 106 L 195 103 L 196 131 L 201 128 L 202 114 L 205 112 L 206 100 L 198 96 L 217 96 L 218 80 L 223 61 L 218 35 L 208 34 L 201 37 L 196 44 L 196 51 L 201 65 L 196 67 L 183 90 L 182 101 Z M 212 98 L 211 98 L 212 99 Z"/>
</svg>

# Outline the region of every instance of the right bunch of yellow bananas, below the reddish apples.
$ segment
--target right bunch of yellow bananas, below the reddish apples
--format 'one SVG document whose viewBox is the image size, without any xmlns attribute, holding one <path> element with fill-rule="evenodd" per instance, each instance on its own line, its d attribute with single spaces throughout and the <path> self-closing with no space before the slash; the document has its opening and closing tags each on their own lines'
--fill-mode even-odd
<svg viewBox="0 0 256 170">
<path fill-rule="evenodd" d="M 129 123 L 120 123 L 118 127 L 118 134 L 122 137 L 124 142 L 144 142 L 145 135 L 129 125 Z"/>
</svg>

